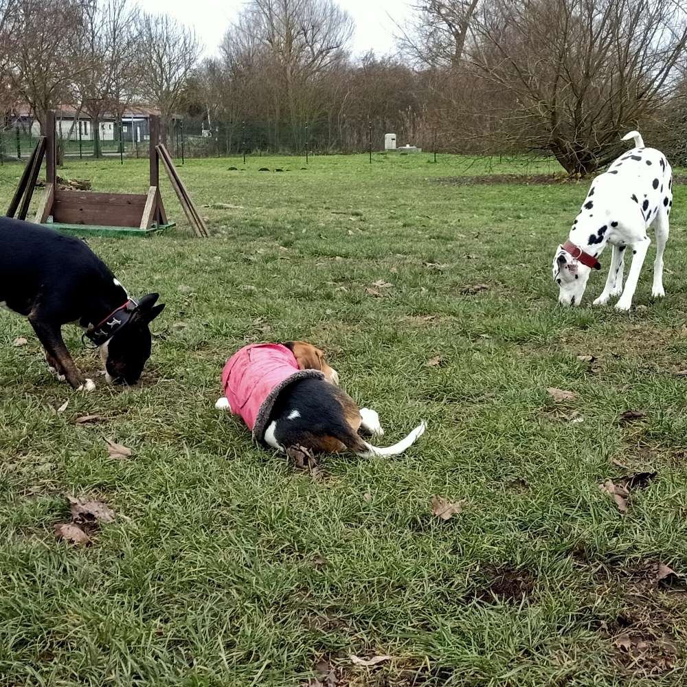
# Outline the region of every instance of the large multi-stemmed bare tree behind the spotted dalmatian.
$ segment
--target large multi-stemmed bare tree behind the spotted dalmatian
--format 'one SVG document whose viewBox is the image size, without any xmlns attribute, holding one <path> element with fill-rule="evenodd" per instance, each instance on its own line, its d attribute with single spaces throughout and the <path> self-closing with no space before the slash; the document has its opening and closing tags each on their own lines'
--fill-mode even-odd
<svg viewBox="0 0 687 687">
<path fill-rule="evenodd" d="M 607 164 L 619 133 L 673 98 L 685 19 L 673 0 L 494 0 L 472 60 L 508 104 L 493 112 L 499 139 L 568 172 Z"/>
</svg>

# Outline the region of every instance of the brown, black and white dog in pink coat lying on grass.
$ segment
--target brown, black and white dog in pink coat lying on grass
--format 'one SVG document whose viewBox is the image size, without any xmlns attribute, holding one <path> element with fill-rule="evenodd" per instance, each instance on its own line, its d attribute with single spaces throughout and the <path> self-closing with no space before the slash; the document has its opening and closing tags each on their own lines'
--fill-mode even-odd
<svg viewBox="0 0 687 687">
<path fill-rule="evenodd" d="M 423 421 L 393 446 L 372 446 L 361 433 L 383 435 L 379 415 L 359 408 L 338 383 L 337 371 L 311 343 L 259 343 L 241 348 L 227 361 L 225 395 L 215 407 L 241 416 L 258 444 L 283 453 L 300 446 L 315 453 L 398 455 L 424 433 Z"/>
</svg>

